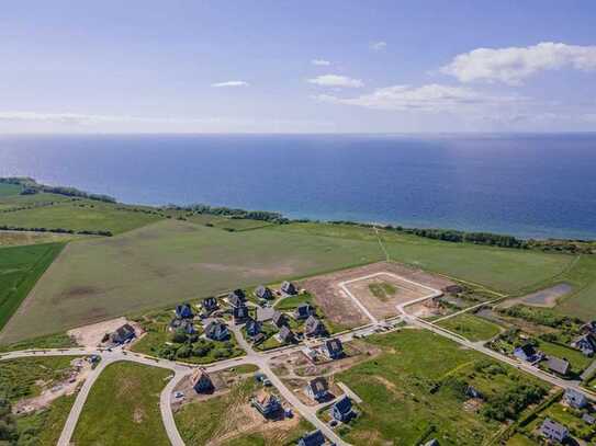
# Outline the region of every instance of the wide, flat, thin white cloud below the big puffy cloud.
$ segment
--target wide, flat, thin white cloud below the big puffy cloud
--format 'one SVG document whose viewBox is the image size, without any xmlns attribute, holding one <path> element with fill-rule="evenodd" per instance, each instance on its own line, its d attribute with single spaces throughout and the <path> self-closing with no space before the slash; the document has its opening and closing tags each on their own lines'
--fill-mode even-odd
<svg viewBox="0 0 596 446">
<path fill-rule="evenodd" d="M 356 98 L 346 99 L 319 94 L 315 99 L 323 102 L 357 105 L 374 110 L 423 112 L 470 111 L 481 106 L 485 107 L 524 100 L 521 96 L 494 96 L 464 87 L 437 83 L 423 87 L 385 87 Z"/>
</svg>

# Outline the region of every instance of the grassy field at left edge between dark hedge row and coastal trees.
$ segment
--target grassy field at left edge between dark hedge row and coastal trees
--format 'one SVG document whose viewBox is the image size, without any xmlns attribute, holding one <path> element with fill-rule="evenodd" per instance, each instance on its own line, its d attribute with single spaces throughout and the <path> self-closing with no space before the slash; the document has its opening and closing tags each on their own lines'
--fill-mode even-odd
<svg viewBox="0 0 596 446">
<path fill-rule="evenodd" d="M 0 213 L 0 225 L 121 233 L 161 219 L 154 214 L 122 208 L 123 205 L 90 199 L 67 201 L 53 206 Z"/>
</svg>

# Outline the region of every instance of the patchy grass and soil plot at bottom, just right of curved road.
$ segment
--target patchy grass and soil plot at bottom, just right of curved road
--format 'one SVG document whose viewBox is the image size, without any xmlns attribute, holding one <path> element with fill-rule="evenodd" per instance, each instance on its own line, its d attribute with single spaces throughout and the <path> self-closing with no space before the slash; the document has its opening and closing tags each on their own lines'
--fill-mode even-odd
<svg viewBox="0 0 596 446">
<path fill-rule="evenodd" d="M 250 377 L 236 384 L 229 392 L 221 397 L 184 404 L 175 414 L 176 424 L 184 443 L 188 446 L 205 445 L 210 441 L 218 439 L 221 435 L 229 435 L 235 430 L 240 428 L 243 423 L 249 421 L 246 420 L 246 415 L 238 416 L 238 407 L 249 404 L 249 399 L 256 390 L 255 379 Z M 270 426 L 263 432 L 230 435 L 227 441 L 216 444 L 226 446 L 295 445 L 304 433 L 312 430 L 310 423 L 301 421 L 290 430 Z"/>
</svg>

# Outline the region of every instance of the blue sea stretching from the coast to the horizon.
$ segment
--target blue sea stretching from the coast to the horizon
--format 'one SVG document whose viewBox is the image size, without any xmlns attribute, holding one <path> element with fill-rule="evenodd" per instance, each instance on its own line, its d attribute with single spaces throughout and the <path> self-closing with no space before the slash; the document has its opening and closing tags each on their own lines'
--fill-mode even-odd
<svg viewBox="0 0 596 446">
<path fill-rule="evenodd" d="M 2 136 L 0 175 L 127 203 L 596 238 L 596 134 Z"/>
</svg>

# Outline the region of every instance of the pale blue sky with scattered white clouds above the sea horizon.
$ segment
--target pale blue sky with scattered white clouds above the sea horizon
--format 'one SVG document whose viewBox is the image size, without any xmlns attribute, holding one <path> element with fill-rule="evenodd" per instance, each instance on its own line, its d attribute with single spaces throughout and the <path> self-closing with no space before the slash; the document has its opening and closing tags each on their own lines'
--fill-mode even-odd
<svg viewBox="0 0 596 446">
<path fill-rule="evenodd" d="M 19 1 L 0 133 L 596 129 L 596 2 Z"/>
</svg>

